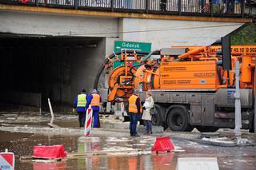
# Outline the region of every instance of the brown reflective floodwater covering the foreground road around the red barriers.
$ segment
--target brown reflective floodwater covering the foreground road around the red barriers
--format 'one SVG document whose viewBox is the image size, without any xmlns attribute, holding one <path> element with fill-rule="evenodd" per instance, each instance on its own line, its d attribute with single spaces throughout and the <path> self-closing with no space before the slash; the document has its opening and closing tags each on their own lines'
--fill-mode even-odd
<svg viewBox="0 0 256 170">
<path fill-rule="evenodd" d="M 2 136 L 4 136 L 5 141 Z M 149 148 L 154 137 L 139 138 L 114 136 L 92 137 L 90 140 L 78 140 L 79 136 L 38 136 L 28 133 L 1 132 L 0 148 L 9 148 L 16 156 L 15 169 L 175 169 L 178 157 L 217 157 L 220 169 L 255 169 L 256 148 L 227 148 L 197 144 L 186 140 L 173 140 L 175 147 L 185 152 L 165 152 L 161 154 L 128 154 L 118 156 L 114 151 L 119 148 Z M 152 139 L 153 138 L 153 139 Z M 68 159 L 61 162 L 45 163 L 32 160 L 19 160 L 20 156 L 33 153 L 38 144 L 64 144 L 70 154 L 100 150 L 113 150 L 112 156 L 88 156 Z"/>
</svg>

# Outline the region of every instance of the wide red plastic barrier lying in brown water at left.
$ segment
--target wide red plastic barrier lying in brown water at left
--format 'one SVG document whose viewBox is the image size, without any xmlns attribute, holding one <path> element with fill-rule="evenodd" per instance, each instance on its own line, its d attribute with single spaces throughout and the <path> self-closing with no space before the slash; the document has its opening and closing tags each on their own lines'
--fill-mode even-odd
<svg viewBox="0 0 256 170">
<path fill-rule="evenodd" d="M 66 152 L 64 152 L 64 146 L 52 145 L 52 146 L 34 146 L 33 158 L 39 159 L 64 159 L 66 158 Z"/>
</svg>

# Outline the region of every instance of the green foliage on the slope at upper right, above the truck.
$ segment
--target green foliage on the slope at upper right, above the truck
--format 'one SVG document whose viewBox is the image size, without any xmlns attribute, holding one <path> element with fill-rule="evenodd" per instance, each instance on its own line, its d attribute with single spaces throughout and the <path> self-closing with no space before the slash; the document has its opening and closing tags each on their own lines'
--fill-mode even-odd
<svg viewBox="0 0 256 170">
<path fill-rule="evenodd" d="M 256 25 L 250 24 L 231 37 L 231 45 L 256 45 Z"/>
</svg>

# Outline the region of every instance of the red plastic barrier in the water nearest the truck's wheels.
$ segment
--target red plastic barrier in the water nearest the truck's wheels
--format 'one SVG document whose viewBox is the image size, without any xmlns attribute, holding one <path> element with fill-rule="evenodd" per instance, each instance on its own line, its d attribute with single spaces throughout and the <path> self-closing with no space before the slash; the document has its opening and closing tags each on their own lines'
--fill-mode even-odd
<svg viewBox="0 0 256 170">
<path fill-rule="evenodd" d="M 170 136 L 157 137 L 152 147 L 152 152 L 172 152 L 174 151 L 174 144 L 170 140 Z"/>
</svg>

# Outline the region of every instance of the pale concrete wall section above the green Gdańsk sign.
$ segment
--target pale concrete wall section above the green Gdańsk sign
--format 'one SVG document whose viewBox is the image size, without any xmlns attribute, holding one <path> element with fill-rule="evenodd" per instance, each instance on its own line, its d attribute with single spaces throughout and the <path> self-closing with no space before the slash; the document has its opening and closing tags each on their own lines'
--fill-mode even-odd
<svg viewBox="0 0 256 170">
<path fill-rule="evenodd" d="M 210 45 L 241 23 L 194 22 L 121 18 L 119 38 L 123 41 L 151 42 L 152 49 L 170 45 Z"/>
</svg>

